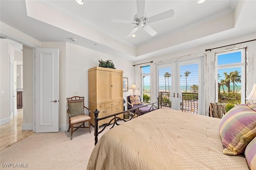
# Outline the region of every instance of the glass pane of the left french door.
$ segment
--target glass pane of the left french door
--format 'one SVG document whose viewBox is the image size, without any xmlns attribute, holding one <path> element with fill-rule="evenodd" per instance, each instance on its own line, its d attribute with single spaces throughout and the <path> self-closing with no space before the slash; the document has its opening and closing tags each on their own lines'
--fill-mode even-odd
<svg viewBox="0 0 256 170">
<path fill-rule="evenodd" d="M 170 92 L 172 91 L 172 68 L 158 69 L 158 97 L 159 107 L 171 109 Z"/>
</svg>

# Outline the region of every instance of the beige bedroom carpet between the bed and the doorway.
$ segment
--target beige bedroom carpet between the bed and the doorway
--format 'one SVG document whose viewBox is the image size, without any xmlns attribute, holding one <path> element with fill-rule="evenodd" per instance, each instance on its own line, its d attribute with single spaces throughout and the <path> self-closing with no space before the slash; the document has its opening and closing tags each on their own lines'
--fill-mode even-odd
<svg viewBox="0 0 256 170">
<path fill-rule="evenodd" d="M 98 139 L 102 135 L 103 133 L 99 135 Z M 35 133 L 4 150 L 0 150 L 0 169 L 86 169 L 93 148 L 94 127 L 92 127 L 91 133 L 88 129 L 78 129 L 74 132 L 72 140 L 70 140 L 70 132 Z M 5 167 L 7 165 L 12 167 Z M 23 166 L 23 168 L 14 166 Z"/>
</svg>

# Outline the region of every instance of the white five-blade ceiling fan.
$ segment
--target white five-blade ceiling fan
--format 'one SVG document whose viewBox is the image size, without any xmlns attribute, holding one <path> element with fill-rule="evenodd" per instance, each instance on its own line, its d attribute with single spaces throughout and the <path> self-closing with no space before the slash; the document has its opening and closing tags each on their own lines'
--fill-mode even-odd
<svg viewBox="0 0 256 170">
<path fill-rule="evenodd" d="M 135 24 L 136 27 L 134 27 L 126 37 L 131 37 L 140 27 L 142 27 L 147 33 L 149 33 L 151 36 L 156 35 L 156 31 L 150 27 L 148 24 L 160 20 L 164 20 L 166 18 L 171 18 L 174 15 L 174 10 L 167 10 L 165 12 L 162 12 L 160 14 L 156 14 L 154 16 L 148 17 L 145 11 L 145 0 L 137 0 L 137 14 L 134 16 L 134 21 L 129 20 L 118 20 L 118 19 L 112 19 L 112 22 L 117 23 L 132 23 Z"/>
</svg>

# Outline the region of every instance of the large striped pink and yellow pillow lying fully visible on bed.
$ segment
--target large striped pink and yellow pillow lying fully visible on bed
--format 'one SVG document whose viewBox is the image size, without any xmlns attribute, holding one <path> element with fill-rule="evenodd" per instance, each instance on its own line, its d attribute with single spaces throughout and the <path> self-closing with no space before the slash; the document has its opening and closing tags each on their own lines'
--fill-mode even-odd
<svg viewBox="0 0 256 170">
<path fill-rule="evenodd" d="M 220 121 L 220 137 L 224 154 L 242 154 L 256 136 L 256 112 L 241 104 L 233 107 Z"/>
</svg>

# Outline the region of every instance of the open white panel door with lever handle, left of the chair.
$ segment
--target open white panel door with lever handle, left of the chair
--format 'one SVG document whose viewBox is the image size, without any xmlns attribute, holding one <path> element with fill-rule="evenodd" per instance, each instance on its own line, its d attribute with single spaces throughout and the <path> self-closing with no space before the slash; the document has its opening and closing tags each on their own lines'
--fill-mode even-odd
<svg viewBox="0 0 256 170">
<path fill-rule="evenodd" d="M 36 48 L 35 131 L 59 131 L 59 49 Z"/>
</svg>

